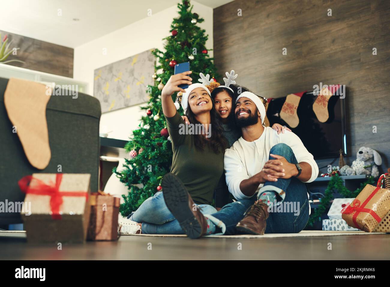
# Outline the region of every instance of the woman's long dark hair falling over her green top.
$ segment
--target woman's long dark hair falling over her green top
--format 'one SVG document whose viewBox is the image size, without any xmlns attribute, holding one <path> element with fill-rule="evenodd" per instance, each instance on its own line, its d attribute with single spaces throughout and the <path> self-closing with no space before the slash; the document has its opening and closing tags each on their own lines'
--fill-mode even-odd
<svg viewBox="0 0 390 287">
<path fill-rule="evenodd" d="M 210 111 L 211 117 L 211 136 L 206 140 L 203 135 L 193 135 L 194 137 L 194 145 L 199 151 L 204 150 L 205 145 L 209 145 L 213 151 L 218 154 L 221 151 L 225 151 L 229 147 L 227 140 L 222 135 L 223 128 L 221 126 L 221 122 L 218 119 L 218 115 L 215 111 L 214 100 L 211 98 L 211 103 L 213 107 Z M 191 124 L 200 124 L 200 122 L 195 118 L 195 114 L 192 112 L 190 106 L 188 106 L 186 110 L 186 116 L 188 117 L 188 121 Z"/>
</svg>

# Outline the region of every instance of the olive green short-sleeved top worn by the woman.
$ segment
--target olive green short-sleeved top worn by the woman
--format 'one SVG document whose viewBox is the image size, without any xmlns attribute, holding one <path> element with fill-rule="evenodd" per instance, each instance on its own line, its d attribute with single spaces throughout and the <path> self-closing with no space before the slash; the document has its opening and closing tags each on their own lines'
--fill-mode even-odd
<svg viewBox="0 0 390 287">
<path fill-rule="evenodd" d="M 180 124 L 184 120 L 176 112 L 167 119 L 167 128 L 172 140 L 172 168 L 175 174 L 184 183 L 196 204 L 212 204 L 214 190 L 223 174 L 223 154 L 216 154 L 209 145 L 204 151 L 199 151 L 194 145 L 194 135 L 181 135 Z M 163 191 L 164 192 L 164 191 Z"/>
</svg>

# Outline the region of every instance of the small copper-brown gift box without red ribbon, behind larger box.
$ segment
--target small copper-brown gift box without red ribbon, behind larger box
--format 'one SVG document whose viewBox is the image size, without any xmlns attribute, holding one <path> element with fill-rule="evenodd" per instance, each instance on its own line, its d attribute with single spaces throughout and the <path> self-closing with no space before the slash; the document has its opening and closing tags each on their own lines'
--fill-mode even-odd
<svg viewBox="0 0 390 287">
<path fill-rule="evenodd" d="M 91 195 L 88 240 L 117 240 L 121 198 L 99 191 Z"/>
</svg>

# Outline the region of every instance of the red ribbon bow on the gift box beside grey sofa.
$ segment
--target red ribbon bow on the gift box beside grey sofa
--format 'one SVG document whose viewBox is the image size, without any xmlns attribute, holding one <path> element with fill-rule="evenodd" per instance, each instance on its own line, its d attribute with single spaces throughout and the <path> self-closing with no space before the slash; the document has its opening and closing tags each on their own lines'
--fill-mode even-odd
<svg viewBox="0 0 390 287">
<path fill-rule="evenodd" d="M 34 181 L 34 185 L 31 184 L 32 181 Z M 20 190 L 26 194 L 50 195 L 51 218 L 60 220 L 60 207 L 63 202 L 63 196 L 85 197 L 88 200 L 88 192 L 85 191 L 60 191 L 61 181 L 62 174 L 57 174 L 54 185 L 48 185 L 40 179 L 32 177 L 32 175 L 26 175 L 18 181 L 18 184 Z"/>
</svg>

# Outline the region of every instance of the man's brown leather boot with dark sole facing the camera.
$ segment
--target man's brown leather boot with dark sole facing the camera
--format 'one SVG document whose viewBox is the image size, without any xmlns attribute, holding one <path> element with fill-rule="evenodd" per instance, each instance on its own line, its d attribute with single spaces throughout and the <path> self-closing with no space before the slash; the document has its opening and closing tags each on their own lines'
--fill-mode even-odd
<svg viewBox="0 0 390 287">
<path fill-rule="evenodd" d="M 165 204 L 188 237 L 206 234 L 207 220 L 192 201 L 183 182 L 174 174 L 165 174 L 161 183 Z M 195 210 L 194 210 L 195 209 Z"/>
</svg>

